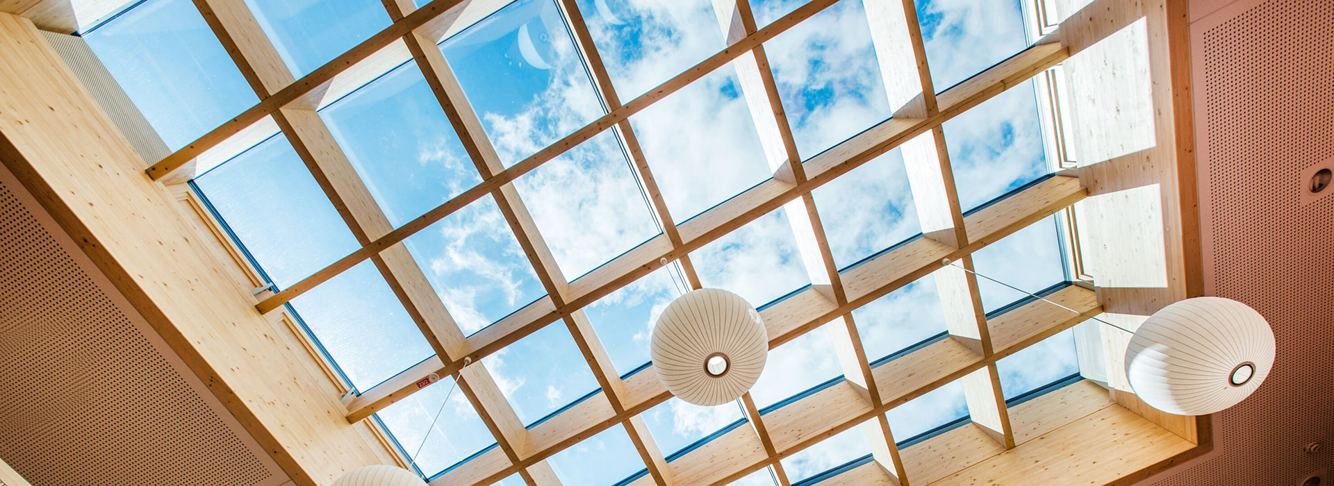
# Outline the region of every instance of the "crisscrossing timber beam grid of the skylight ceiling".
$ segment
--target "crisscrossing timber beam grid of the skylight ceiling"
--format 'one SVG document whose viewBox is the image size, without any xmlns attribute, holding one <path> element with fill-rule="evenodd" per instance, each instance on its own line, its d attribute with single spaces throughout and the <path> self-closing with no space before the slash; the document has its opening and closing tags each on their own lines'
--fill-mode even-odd
<svg viewBox="0 0 1334 486">
<path fill-rule="evenodd" d="M 196 157 L 261 119 L 272 116 L 351 228 L 362 249 L 291 288 L 269 294 L 259 302 L 257 309 L 261 313 L 283 309 L 284 304 L 296 296 L 354 265 L 366 260 L 375 262 L 436 356 L 347 399 L 348 421 L 364 419 L 418 391 L 426 386 L 419 383 L 431 379 L 432 375 L 455 375 L 459 389 L 496 439 L 498 447 L 484 450 L 435 477 L 432 485 L 484 485 L 515 473 L 530 485 L 559 483 L 546 458 L 615 425 L 624 426 L 646 465 L 647 474 L 636 478 L 634 481 L 636 485 L 726 483 L 772 466 L 776 479 L 786 486 L 790 482 L 779 458 L 852 426 L 867 427 L 872 434 L 883 437 L 883 443 L 879 441 L 872 443 L 872 455 L 884 473 L 906 485 L 912 478 L 906 474 L 904 461 L 884 417 L 886 411 L 962 378 L 970 395 L 972 423 L 983 427 L 1007 449 L 1014 447 L 1015 435 L 1000 394 L 995 362 L 1083 320 L 1082 316 L 1073 316 L 1054 306 L 1031 304 L 991 316 L 988 320 L 980 310 L 975 277 L 954 269 L 942 270 L 940 260 L 956 260 L 971 269 L 972 252 L 1069 208 L 1087 192 L 1075 177 L 1054 176 L 1017 189 L 994 204 L 964 216 L 959 208 L 948 156 L 943 149 L 940 125 L 1055 67 L 1069 57 L 1069 49 L 1059 41 L 1039 41 L 1000 64 L 936 93 L 927 68 L 914 1 L 864 1 L 882 4 L 867 8 L 867 15 L 872 20 L 872 40 L 878 44 L 887 43 L 891 49 L 883 52 L 894 52 L 900 57 L 880 63 L 894 61 L 914 67 L 896 69 L 903 75 L 902 79 L 884 79 L 895 117 L 802 161 L 779 103 L 763 43 L 835 4 L 836 0 L 812 0 L 763 29 L 756 29 L 746 0 L 735 3 L 714 0 L 719 19 L 730 19 L 720 21 L 728 47 L 655 89 L 624 103 L 612 88 L 592 36 L 575 5 L 576 0 L 558 0 L 562 15 L 574 33 L 576 49 L 592 75 L 602 103 L 607 107 L 607 113 L 526 160 L 504 168 L 436 44 L 499 11 L 508 4 L 508 0 L 434 0 L 422 8 L 414 8 L 411 0 L 384 0 L 384 7 L 394 20 L 388 28 L 301 79 L 293 79 L 259 23 L 239 0 L 196 0 L 195 5 L 261 101 L 153 164 L 147 173 L 163 182 L 188 178 Z M 1043 25 L 1043 29 L 1054 31 L 1051 27 L 1055 25 Z M 315 109 L 320 108 L 320 99 L 335 79 L 366 76 L 358 71 L 375 64 L 379 52 L 399 40 L 406 44 L 412 60 L 420 67 L 483 181 L 426 214 L 392 228 L 374 202 L 366 184 L 356 176 L 347 156 L 328 134 L 328 128 Z M 771 165 L 776 166 L 772 178 L 678 225 L 654 182 L 628 117 L 728 63 L 738 69 L 743 91 L 762 93 L 762 96 L 747 96 L 747 100 L 767 104 L 751 108 L 764 152 L 783 154 L 784 158 L 771 161 Z M 386 69 L 380 72 L 383 71 Z M 763 115 L 756 116 L 756 113 Z M 570 282 L 560 274 L 551 250 L 538 233 L 511 182 L 608 129 L 614 130 L 627 148 L 636 177 L 646 188 L 664 230 Z M 911 190 L 924 237 L 910 240 L 839 272 L 834 265 L 811 190 L 904 144 L 924 144 L 931 148 L 920 150 L 930 154 L 918 157 L 920 160 L 904 157 L 908 173 L 922 174 L 912 178 Z M 487 194 L 491 194 L 500 206 L 507 224 L 536 269 L 547 297 L 466 337 L 444 309 L 439 296 L 431 290 L 423 270 L 407 254 L 404 246 L 398 244 Z M 792 218 L 792 230 L 795 237 L 818 244 L 814 249 L 819 252 L 815 261 L 823 262 L 827 278 L 812 276 L 812 280 L 827 281 L 760 312 L 768 330 L 770 348 L 820 326 L 836 328 L 832 334 L 835 340 L 842 341 L 835 348 L 844 367 L 844 381 L 799 397 L 794 403 L 764 415 L 760 415 L 750 394 L 746 394 L 742 402 L 752 427 L 736 427 L 714 437 L 675 458 L 668 467 L 639 414 L 667 401 L 670 393 L 658 382 L 655 373 L 648 370 L 626 378 L 619 377 L 580 309 L 663 265 L 679 265 L 678 270 L 686 276 L 690 285 L 700 288 L 687 253 L 779 206 L 787 208 L 790 214 L 808 216 L 808 222 L 800 221 L 800 217 Z M 934 342 L 872 367 L 862 350 L 852 322 L 852 309 L 931 273 L 936 274 L 938 285 L 942 286 L 942 305 L 950 314 L 947 326 L 952 340 Z M 954 286 L 956 292 L 946 292 L 946 285 Z M 1101 312 L 1094 292 L 1082 286 L 1066 286 L 1049 297 L 1083 313 Z M 496 353 L 556 321 L 564 322 L 570 329 L 600 390 L 532 429 L 526 429 L 487 369 L 464 366 L 466 360 L 478 362 L 482 357 Z M 854 356 L 846 356 L 848 353 Z M 975 401 L 971 399 L 974 395 L 980 397 L 980 402 L 990 401 L 991 405 L 975 406 Z M 756 439 L 762 447 L 755 446 Z M 718 461 L 719 457 L 724 461 Z"/>
</svg>

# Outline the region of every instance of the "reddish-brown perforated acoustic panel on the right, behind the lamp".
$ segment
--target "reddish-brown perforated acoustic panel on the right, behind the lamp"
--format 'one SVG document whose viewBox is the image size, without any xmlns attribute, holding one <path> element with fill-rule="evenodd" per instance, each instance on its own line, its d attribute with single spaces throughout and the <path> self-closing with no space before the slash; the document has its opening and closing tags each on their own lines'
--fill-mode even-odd
<svg viewBox="0 0 1334 486">
<path fill-rule="evenodd" d="M 1299 486 L 1334 446 L 1334 197 L 1302 205 L 1299 178 L 1334 156 L 1334 3 L 1207 4 L 1190 25 L 1206 293 L 1259 310 L 1278 354 L 1215 417 L 1214 453 L 1146 483 Z"/>
</svg>

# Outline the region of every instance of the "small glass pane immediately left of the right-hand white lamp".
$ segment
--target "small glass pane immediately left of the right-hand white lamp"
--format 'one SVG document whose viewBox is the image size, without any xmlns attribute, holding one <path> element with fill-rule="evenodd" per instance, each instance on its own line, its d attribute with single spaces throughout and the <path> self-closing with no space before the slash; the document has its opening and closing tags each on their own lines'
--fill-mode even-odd
<svg viewBox="0 0 1334 486">
<path fill-rule="evenodd" d="M 1000 358 L 1000 361 L 996 361 L 996 371 L 1000 374 L 1000 390 L 1005 391 L 1005 399 L 1022 395 L 1047 386 L 1057 379 L 1079 373 L 1074 330 L 1066 329 L 1057 336 Z"/>
</svg>

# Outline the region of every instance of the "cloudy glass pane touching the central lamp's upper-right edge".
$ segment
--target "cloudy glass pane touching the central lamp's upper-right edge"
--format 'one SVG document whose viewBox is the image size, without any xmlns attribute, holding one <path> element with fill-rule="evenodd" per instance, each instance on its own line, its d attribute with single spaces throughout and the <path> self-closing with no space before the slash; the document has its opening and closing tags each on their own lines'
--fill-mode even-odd
<svg viewBox="0 0 1334 486">
<path fill-rule="evenodd" d="M 811 282 L 783 208 L 690 254 L 706 288 L 726 289 L 759 308 Z"/>
</svg>

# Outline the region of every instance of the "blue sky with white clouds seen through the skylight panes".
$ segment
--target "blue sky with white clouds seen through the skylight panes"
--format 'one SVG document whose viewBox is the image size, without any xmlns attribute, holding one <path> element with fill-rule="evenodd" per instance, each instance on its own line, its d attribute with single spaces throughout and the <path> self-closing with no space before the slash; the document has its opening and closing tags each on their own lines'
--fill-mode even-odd
<svg viewBox="0 0 1334 486">
<path fill-rule="evenodd" d="M 248 0 L 296 76 L 388 24 L 374 0 Z M 760 25 L 796 0 L 755 1 Z M 723 48 L 708 0 L 580 0 L 622 101 Z M 1025 48 L 1017 1 L 918 3 L 938 91 Z M 147 0 L 87 33 L 171 148 L 256 103 L 255 95 L 187 0 Z M 843 0 L 766 44 L 783 108 L 803 158 L 887 119 L 862 3 Z M 520 0 L 443 44 L 486 136 L 510 165 L 606 113 L 551 0 Z M 179 109 L 189 105 L 192 109 Z M 435 208 L 482 178 L 420 71 L 403 65 L 320 112 L 394 225 Z M 770 177 L 732 67 L 723 67 L 631 117 L 668 210 L 682 222 Z M 1034 92 L 1011 89 L 944 125 L 964 209 L 1049 170 Z M 241 244 L 281 288 L 351 253 L 356 241 L 283 136 L 196 180 Z M 515 182 L 560 272 L 574 280 L 659 234 L 620 141 L 594 137 Z M 839 268 L 916 236 L 920 225 L 891 150 L 814 193 Z M 788 214 L 778 209 L 691 253 L 706 286 L 755 305 L 808 285 Z M 546 290 L 495 201 L 484 197 L 406 242 L 466 334 L 540 298 Z M 1063 281 L 1054 220 L 975 256 L 979 272 L 1027 290 Z M 1022 297 L 983 281 L 987 310 Z M 683 292 L 672 269 L 648 274 L 586 308 L 618 373 L 648 361 L 658 313 Z M 355 386 L 366 390 L 431 356 L 372 265 L 363 264 L 292 302 Z M 935 282 L 924 277 L 852 313 L 871 360 L 944 332 Z M 772 350 L 752 390 L 763 409 L 842 374 L 823 329 Z M 480 364 L 524 423 L 596 389 L 563 325 L 547 326 Z M 998 364 L 1006 397 L 1077 370 L 1069 333 Z M 379 418 L 434 474 L 491 446 L 478 413 L 450 379 L 383 410 Z M 450 394 L 448 402 L 446 395 Z M 890 411 L 898 439 L 966 415 L 962 389 L 946 385 Z M 644 414 L 671 454 L 743 419 L 734 405 L 670 399 Z M 858 429 L 783 461 L 794 481 L 870 450 Z M 620 426 L 550 459 L 567 485 L 611 485 L 643 469 Z M 598 465 L 598 466 L 594 466 Z M 616 465 L 615 467 L 602 467 Z M 739 485 L 771 485 L 767 470 Z"/>
</svg>

